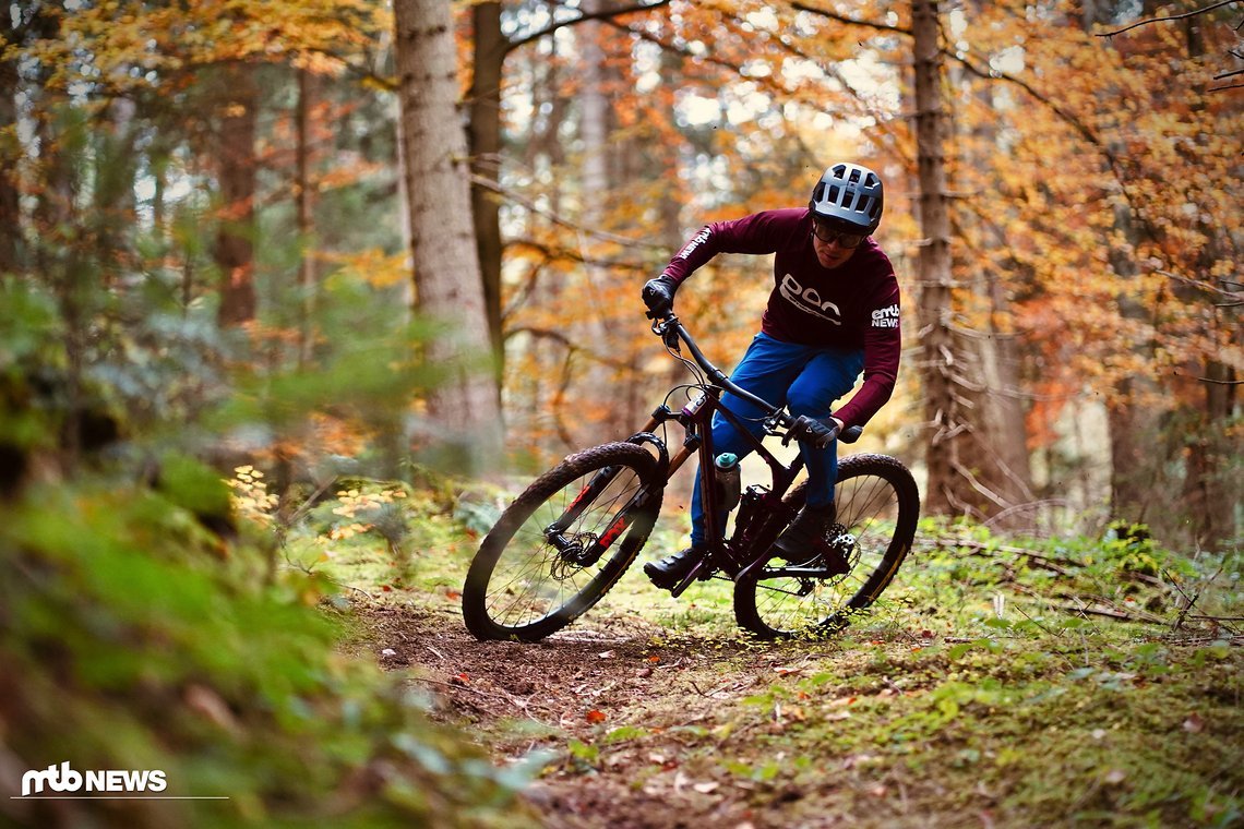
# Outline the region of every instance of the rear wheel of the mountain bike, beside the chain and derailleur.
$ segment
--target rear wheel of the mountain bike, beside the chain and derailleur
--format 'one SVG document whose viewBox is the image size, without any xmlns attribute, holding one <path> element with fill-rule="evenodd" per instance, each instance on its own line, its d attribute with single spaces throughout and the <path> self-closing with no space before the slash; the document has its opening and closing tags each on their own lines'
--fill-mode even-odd
<svg viewBox="0 0 1244 829">
<path fill-rule="evenodd" d="M 795 510 L 804 506 L 805 486 L 786 497 Z M 837 520 L 826 542 L 851 569 L 832 575 L 815 562 L 791 566 L 773 557 L 744 570 L 734 585 L 741 628 L 764 639 L 835 633 L 894 578 L 919 517 L 912 474 L 886 455 L 853 455 L 838 465 L 833 497 Z"/>
</svg>

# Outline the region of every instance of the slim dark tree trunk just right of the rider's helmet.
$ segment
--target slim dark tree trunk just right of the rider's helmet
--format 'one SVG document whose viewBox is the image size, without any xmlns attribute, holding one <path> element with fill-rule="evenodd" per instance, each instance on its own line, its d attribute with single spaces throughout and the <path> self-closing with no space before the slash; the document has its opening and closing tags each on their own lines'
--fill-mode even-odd
<svg viewBox="0 0 1244 829">
<path fill-rule="evenodd" d="M 912 4 L 916 57 L 916 153 L 919 176 L 921 247 L 919 317 L 926 413 L 929 435 L 926 442 L 928 486 L 926 510 L 933 515 L 962 511 L 957 496 L 955 442 L 967 429 L 959 420 L 955 400 L 954 337 L 950 329 L 950 218 L 945 196 L 943 142 L 945 116 L 942 111 L 942 55 L 935 0 Z"/>
</svg>

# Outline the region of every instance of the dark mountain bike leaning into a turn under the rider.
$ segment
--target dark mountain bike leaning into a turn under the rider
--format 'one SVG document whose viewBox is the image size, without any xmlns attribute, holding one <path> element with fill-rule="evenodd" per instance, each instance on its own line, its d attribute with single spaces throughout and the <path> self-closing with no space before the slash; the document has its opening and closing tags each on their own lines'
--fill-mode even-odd
<svg viewBox="0 0 1244 829">
<path fill-rule="evenodd" d="M 661 513 L 671 476 L 698 455 L 707 522 L 707 552 L 672 588 L 680 595 L 697 580 L 734 582 L 739 626 L 764 639 L 832 634 L 868 608 L 893 580 L 911 549 L 919 513 L 912 474 L 897 459 L 861 454 L 838 462 L 837 516 L 817 554 L 791 563 L 774 541 L 804 506 L 806 481 L 795 483 L 802 455 L 784 464 L 743 428 L 744 418 L 722 401 L 725 392 L 756 406 L 764 435 L 786 436 L 795 418 L 750 394 L 703 354 L 669 314 L 652 331 L 695 377 L 674 387 L 648 423 L 624 441 L 567 456 L 537 477 L 501 513 L 471 561 L 463 588 L 463 618 L 478 639 L 536 641 L 582 615 L 634 562 Z M 690 353 L 682 354 L 679 343 Z M 669 403 L 682 390 L 688 403 Z M 694 396 L 693 396 L 694 395 Z M 720 486 L 714 466 L 712 419 L 719 414 L 748 434 L 770 472 L 768 485 L 741 492 Z M 673 456 L 658 430 L 682 426 Z M 677 433 L 675 433 L 677 434 Z M 853 442 L 861 430 L 845 430 Z M 733 532 L 719 518 L 738 495 Z M 830 564 L 833 562 L 833 566 Z M 843 564 L 845 562 L 845 564 Z M 846 573 L 840 570 L 850 566 Z"/>
</svg>

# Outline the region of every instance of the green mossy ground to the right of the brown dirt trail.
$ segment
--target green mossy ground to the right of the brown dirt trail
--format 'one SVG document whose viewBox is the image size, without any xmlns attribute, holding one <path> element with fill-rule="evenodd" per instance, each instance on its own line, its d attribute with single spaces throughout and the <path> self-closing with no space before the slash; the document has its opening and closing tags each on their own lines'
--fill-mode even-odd
<svg viewBox="0 0 1244 829">
<path fill-rule="evenodd" d="M 838 797 L 906 787 L 902 799 L 884 798 L 896 817 L 927 800 L 1009 825 L 1242 817 L 1244 664 L 1225 644 L 884 643 L 843 661 L 753 695 L 734 713 L 773 722 L 785 701 L 786 725 L 766 742 L 815 746 L 816 768 L 827 761 L 848 782 Z"/>
</svg>

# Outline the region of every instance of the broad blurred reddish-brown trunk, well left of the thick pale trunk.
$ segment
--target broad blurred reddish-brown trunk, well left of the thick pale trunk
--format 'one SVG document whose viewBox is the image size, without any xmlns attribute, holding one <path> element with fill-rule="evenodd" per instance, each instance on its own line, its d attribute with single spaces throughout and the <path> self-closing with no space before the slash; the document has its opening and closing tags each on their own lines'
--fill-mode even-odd
<svg viewBox="0 0 1244 829">
<path fill-rule="evenodd" d="M 255 318 L 255 123 L 259 87 L 255 70 L 233 63 L 224 70 L 223 88 L 229 91 L 220 121 L 221 218 L 213 256 L 220 268 L 221 326 L 238 326 Z"/>
</svg>

